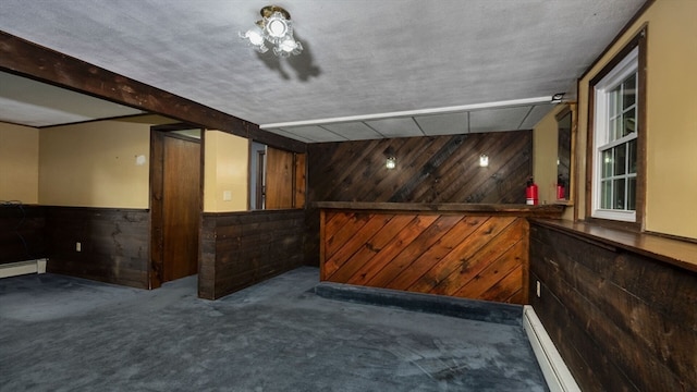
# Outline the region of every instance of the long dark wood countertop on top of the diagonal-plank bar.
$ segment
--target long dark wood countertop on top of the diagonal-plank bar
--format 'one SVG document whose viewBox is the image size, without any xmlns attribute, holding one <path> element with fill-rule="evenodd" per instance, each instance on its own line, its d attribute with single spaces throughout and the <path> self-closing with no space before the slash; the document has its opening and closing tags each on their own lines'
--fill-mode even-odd
<svg viewBox="0 0 697 392">
<path fill-rule="evenodd" d="M 320 209 L 390 211 L 390 212 L 460 212 L 468 215 L 500 215 L 515 217 L 557 218 L 564 211 L 561 205 L 528 206 L 518 204 L 470 204 L 470 203 L 362 203 L 316 201 Z"/>
</svg>

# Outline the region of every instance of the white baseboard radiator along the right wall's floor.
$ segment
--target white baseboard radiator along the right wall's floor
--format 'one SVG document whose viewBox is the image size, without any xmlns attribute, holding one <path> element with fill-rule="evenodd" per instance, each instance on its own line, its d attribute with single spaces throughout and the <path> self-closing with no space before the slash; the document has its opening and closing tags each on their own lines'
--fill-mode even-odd
<svg viewBox="0 0 697 392">
<path fill-rule="evenodd" d="M 557 351 L 540 319 L 530 305 L 523 307 L 523 327 L 533 345 L 550 392 L 580 392 L 576 380 Z"/>
</svg>

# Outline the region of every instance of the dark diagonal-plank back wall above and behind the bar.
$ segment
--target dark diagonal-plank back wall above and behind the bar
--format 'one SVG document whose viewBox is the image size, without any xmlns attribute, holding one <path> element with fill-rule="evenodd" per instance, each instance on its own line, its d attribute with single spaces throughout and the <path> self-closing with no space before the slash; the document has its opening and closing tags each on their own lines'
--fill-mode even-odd
<svg viewBox="0 0 697 392">
<path fill-rule="evenodd" d="M 525 204 L 531 164 L 531 131 L 310 144 L 309 201 Z"/>
</svg>

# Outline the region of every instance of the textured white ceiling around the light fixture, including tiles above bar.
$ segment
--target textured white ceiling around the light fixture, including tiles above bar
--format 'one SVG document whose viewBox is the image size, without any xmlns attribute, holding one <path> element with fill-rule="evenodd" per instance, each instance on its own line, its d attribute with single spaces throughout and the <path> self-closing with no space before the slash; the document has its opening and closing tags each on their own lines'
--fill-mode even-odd
<svg viewBox="0 0 697 392">
<path fill-rule="evenodd" d="M 290 59 L 237 37 L 268 4 L 257 0 L 2 0 L 0 28 L 271 132 L 327 142 L 529 128 L 553 94 L 573 96 L 643 2 L 280 1 L 305 47 Z"/>
</svg>

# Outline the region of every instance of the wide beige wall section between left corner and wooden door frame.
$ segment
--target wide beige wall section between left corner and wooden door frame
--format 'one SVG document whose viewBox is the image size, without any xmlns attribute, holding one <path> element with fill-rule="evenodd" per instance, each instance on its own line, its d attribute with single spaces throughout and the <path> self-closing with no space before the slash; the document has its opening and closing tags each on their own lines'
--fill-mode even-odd
<svg viewBox="0 0 697 392">
<path fill-rule="evenodd" d="M 39 132 L 39 203 L 148 208 L 150 125 L 101 121 Z"/>
</svg>

